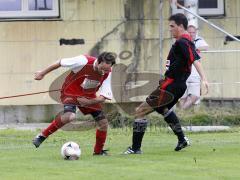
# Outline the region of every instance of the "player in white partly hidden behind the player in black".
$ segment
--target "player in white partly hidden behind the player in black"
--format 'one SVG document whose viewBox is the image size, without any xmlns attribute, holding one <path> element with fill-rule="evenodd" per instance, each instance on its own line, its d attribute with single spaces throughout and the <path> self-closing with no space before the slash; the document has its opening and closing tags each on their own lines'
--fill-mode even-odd
<svg viewBox="0 0 240 180">
<path fill-rule="evenodd" d="M 200 54 L 200 51 L 207 50 L 208 44 L 206 41 L 197 36 L 197 29 L 195 26 L 190 25 L 187 29 L 188 33 L 193 39 L 193 42 L 196 46 L 197 52 Z M 189 78 L 186 81 L 187 89 L 184 95 L 180 99 L 180 107 L 182 109 L 188 109 L 194 104 L 200 103 L 200 92 L 201 92 L 201 80 L 200 76 L 194 66 L 192 66 L 192 72 Z"/>
</svg>

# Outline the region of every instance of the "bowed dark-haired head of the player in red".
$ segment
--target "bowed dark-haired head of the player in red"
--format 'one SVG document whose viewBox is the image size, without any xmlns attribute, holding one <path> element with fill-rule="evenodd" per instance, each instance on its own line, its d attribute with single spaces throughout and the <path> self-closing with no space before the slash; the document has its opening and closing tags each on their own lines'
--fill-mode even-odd
<svg viewBox="0 0 240 180">
<path fill-rule="evenodd" d="M 107 73 L 111 67 L 116 63 L 116 54 L 113 52 L 103 52 L 98 56 L 98 71 Z"/>
</svg>

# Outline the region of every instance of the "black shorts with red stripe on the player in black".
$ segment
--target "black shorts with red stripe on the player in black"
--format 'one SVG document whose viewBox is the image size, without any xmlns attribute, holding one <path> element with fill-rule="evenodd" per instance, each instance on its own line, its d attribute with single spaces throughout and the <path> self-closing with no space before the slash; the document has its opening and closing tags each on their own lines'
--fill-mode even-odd
<svg viewBox="0 0 240 180">
<path fill-rule="evenodd" d="M 178 102 L 186 89 L 185 81 L 166 78 L 159 82 L 159 86 L 146 98 L 146 102 L 155 111 L 163 114 L 166 108 L 169 110 Z"/>
</svg>

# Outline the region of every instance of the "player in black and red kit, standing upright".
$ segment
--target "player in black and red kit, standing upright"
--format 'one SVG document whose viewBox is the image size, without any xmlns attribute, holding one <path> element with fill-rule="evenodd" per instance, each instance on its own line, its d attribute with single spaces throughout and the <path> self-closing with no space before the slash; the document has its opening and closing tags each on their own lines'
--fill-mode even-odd
<svg viewBox="0 0 240 180">
<path fill-rule="evenodd" d="M 136 119 L 133 125 L 132 146 L 124 154 L 141 154 L 141 143 L 147 127 L 146 114 L 153 111 L 164 116 L 164 120 L 178 137 L 175 151 L 187 147 L 190 143 L 184 135 L 179 119 L 172 111 L 172 107 L 178 102 L 186 90 L 186 80 L 191 73 L 191 65 L 196 67 L 203 85 L 208 91 L 208 82 L 204 75 L 200 59 L 196 52 L 192 39 L 188 34 L 188 21 L 184 14 L 175 14 L 169 18 L 170 32 L 175 43 L 168 55 L 165 78 L 161 79 L 159 86 L 136 109 Z"/>
</svg>

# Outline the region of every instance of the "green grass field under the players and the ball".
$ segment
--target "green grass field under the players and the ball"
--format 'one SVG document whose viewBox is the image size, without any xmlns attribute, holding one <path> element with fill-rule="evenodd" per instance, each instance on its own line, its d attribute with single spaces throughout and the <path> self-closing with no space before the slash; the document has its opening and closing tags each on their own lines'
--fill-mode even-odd
<svg viewBox="0 0 240 180">
<path fill-rule="evenodd" d="M 39 148 L 37 132 L 0 131 L 0 179 L 240 179 L 240 129 L 188 134 L 192 145 L 174 152 L 176 137 L 165 130 L 147 132 L 143 155 L 120 153 L 130 144 L 130 129 L 111 129 L 106 144 L 111 156 L 92 156 L 94 130 L 59 131 Z M 60 148 L 80 144 L 78 161 L 66 161 Z"/>
</svg>

